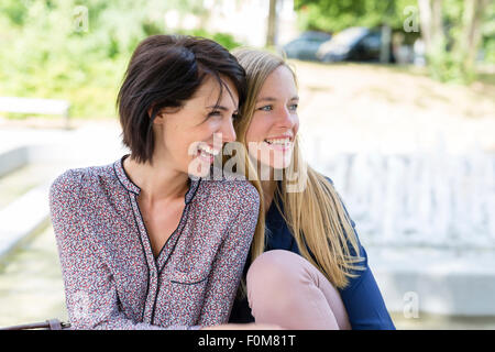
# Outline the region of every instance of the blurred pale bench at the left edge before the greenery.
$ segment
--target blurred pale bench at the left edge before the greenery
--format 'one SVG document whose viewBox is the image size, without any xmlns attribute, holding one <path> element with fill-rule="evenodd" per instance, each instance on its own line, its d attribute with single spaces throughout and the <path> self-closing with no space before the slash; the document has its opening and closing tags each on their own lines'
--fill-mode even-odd
<svg viewBox="0 0 495 352">
<path fill-rule="evenodd" d="M 66 100 L 0 97 L 0 111 L 58 114 L 64 118 L 65 129 L 69 128 L 69 108 Z"/>
</svg>

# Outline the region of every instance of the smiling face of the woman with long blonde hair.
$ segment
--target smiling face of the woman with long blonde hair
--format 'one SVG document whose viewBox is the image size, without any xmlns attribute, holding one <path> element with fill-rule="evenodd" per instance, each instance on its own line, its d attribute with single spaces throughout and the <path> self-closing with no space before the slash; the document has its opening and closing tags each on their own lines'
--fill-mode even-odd
<svg viewBox="0 0 495 352">
<path fill-rule="evenodd" d="M 277 67 L 260 90 L 245 135 L 252 157 L 276 169 L 289 166 L 299 130 L 298 102 L 293 73 Z"/>
</svg>

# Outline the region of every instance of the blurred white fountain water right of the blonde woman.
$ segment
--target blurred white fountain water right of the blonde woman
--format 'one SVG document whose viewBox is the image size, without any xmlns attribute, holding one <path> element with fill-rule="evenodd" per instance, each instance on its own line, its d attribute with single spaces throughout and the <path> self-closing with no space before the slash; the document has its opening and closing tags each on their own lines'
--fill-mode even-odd
<svg viewBox="0 0 495 352">
<path fill-rule="evenodd" d="M 376 245 L 495 249 L 495 155 L 341 153 L 312 163 Z"/>
</svg>

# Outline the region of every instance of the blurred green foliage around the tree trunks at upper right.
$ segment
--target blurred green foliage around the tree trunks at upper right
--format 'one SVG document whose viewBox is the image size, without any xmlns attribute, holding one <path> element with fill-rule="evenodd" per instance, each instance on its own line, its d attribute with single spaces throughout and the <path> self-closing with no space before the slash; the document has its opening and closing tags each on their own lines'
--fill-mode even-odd
<svg viewBox="0 0 495 352">
<path fill-rule="evenodd" d="M 475 79 L 475 67 L 465 65 L 465 53 L 460 47 L 464 34 L 464 0 L 443 0 L 444 40 L 436 43 L 427 55 L 431 76 L 441 81 L 468 84 Z M 339 32 L 350 26 L 374 28 L 389 25 L 404 33 L 407 7 L 418 8 L 417 0 L 295 0 L 301 30 Z M 417 35 L 406 34 L 406 42 Z M 417 34 L 417 33 L 416 33 Z M 491 1 L 482 24 L 481 47 L 486 63 L 495 63 L 495 1 Z"/>
</svg>

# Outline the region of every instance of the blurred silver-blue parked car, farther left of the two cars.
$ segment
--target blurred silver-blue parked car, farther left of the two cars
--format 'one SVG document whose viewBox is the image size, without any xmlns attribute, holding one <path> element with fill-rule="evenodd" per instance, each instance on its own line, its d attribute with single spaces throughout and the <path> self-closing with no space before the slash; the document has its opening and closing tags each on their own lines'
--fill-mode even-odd
<svg viewBox="0 0 495 352">
<path fill-rule="evenodd" d="M 289 58 L 317 61 L 316 53 L 320 45 L 332 36 L 323 32 L 304 32 L 297 38 L 284 45 L 284 51 Z"/>
</svg>

